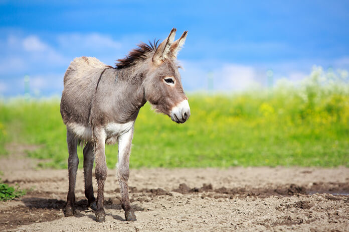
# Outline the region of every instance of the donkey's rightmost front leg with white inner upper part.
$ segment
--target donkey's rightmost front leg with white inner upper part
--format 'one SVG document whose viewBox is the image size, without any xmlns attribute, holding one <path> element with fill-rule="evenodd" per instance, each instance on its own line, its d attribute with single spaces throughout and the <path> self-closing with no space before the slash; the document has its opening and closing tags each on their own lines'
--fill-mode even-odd
<svg viewBox="0 0 349 232">
<path fill-rule="evenodd" d="M 128 221 L 135 221 L 136 215 L 134 215 L 134 211 L 131 208 L 130 200 L 128 198 L 128 177 L 130 174 L 129 171 L 129 158 L 131 151 L 131 143 L 133 137 L 133 128 L 128 132 L 119 136 L 118 139 L 118 175 L 120 182 L 120 192 L 121 192 L 121 206 L 125 210 L 125 218 Z"/>
</svg>

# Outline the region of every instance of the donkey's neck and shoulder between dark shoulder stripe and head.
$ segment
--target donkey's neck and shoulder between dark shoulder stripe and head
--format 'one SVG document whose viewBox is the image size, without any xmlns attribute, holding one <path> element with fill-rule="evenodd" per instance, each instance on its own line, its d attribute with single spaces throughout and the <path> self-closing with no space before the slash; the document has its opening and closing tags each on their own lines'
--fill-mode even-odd
<svg viewBox="0 0 349 232">
<path fill-rule="evenodd" d="M 139 71 L 128 68 L 105 69 L 93 95 L 90 124 L 134 121 L 139 108 L 146 102 L 142 81 L 138 79 L 141 75 Z"/>
</svg>

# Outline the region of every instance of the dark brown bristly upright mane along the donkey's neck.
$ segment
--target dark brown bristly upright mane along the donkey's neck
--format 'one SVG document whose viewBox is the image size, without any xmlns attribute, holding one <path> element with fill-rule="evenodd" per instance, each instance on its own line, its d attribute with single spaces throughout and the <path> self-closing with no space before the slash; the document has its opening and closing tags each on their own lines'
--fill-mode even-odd
<svg viewBox="0 0 349 232">
<path fill-rule="evenodd" d="M 155 52 L 158 47 L 158 40 L 153 43 L 149 41 L 149 44 L 140 43 L 138 48 L 131 50 L 128 55 L 123 59 L 118 59 L 115 63 L 115 68 L 127 68 L 134 65 L 137 61 L 145 60 L 148 53 Z"/>
</svg>

